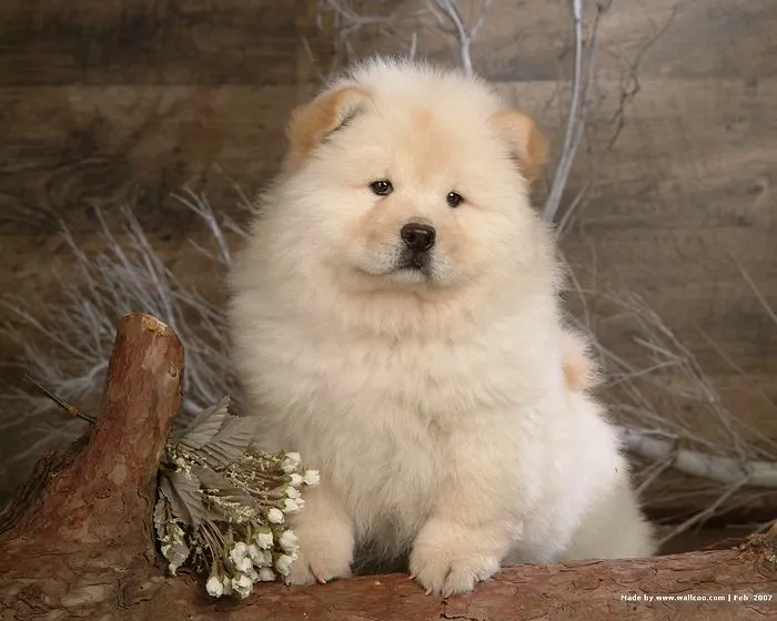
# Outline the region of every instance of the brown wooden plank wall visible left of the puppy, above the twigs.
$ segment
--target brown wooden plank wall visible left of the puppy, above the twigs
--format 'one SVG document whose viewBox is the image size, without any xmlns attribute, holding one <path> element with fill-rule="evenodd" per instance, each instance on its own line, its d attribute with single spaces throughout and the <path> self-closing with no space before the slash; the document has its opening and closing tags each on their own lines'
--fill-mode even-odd
<svg viewBox="0 0 777 621">
<path fill-rule="evenodd" d="M 171 193 L 189 185 L 234 211 L 233 182 L 251 194 L 276 170 L 289 111 L 311 82 L 302 37 L 313 53 L 319 48 L 313 6 L 0 2 L 0 293 L 33 305 L 58 299 L 52 269 L 65 285 L 75 277 L 58 221 L 89 252 L 98 243 L 93 206 L 115 223 L 125 203 L 165 263 L 202 285 L 191 268 L 202 261 L 186 243 L 198 234 L 194 218 Z M 208 286 L 218 293 L 219 283 Z M 0 305 L 0 323 L 9 315 Z M 0 380 L 14 387 L 17 355 L 0 337 Z M 59 416 L 3 425 L 0 471 L 47 424 L 61 425 Z M 0 490 L 29 465 L 3 477 Z"/>
</svg>

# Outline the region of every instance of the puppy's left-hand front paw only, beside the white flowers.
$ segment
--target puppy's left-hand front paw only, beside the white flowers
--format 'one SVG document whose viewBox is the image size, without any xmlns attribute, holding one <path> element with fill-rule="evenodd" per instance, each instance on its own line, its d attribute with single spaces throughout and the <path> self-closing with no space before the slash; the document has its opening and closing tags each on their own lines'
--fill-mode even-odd
<svg viewBox="0 0 777 621">
<path fill-rule="evenodd" d="M 300 538 L 300 550 L 292 563 L 286 584 L 322 584 L 337 578 L 351 576 L 353 560 L 353 537 L 350 530 L 316 529 L 315 533 L 307 529 L 295 533 Z"/>
</svg>

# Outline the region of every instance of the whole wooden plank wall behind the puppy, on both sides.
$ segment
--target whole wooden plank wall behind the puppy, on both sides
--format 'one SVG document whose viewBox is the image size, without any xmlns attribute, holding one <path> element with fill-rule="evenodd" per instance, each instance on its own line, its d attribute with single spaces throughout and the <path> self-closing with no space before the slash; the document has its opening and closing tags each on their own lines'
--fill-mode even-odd
<svg viewBox="0 0 777 621">
<path fill-rule="evenodd" d="M 89 247 L 92 206 L 110 220 L 124 203 L 170 265 L 195 277 L 183 242 L 202 233 L 171 193 L 189 185 L 232 212 L 233 182 L 246 193 L 266 183 L 290 109 L 315 86 L 303 37 L 322 64 L 330 54 L 314 4 L 0 3 L 0 288 L 56 297 L 51 268 L 67 273 L 70 261 L 58 220 Z M 450 39 L 420 40 L 433 58 L 453 58 Z M 777 438 L 768 401 L 777 403 L 777 325 L 738 267 L 777 308 L 775 41 L 774 0 L 614 0 L 568 192 L 593 180 L 591 200 L 564 252 L 586 288 L 643 296 L 727 405 Z M 360 50 L 383 44 L 371 38 Z M 537 116 L 556 147 L 569 54 L 563 0 L 494 2 L 473 45 L 475 69 Z M 629 326 L 599 318 L 596 327 L 607 345 L 636 355 Z M 17 355 L 0 340 L 7 379 Z M 18 428 L 26 438 L 38 432 Z M 11 455 L 18 444 L 0 450 Z"/>
</svg>

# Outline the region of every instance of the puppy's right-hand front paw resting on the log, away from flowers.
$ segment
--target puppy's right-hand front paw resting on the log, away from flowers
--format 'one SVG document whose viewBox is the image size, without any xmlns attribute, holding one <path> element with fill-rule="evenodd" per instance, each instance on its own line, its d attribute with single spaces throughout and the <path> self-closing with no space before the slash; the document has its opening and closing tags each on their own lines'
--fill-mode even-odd
<svg viewBox="0 0 777 621">
<path fill-rule="evenodd" d="M 462 536 L 464 535 L 464 536 Z M 478 546 L 475 532 L 440 522 L 425 526 L 413 544 L 410 574 L 427 594 L 466 593 L 500 569 L 500 558 Z"/>
</svg>

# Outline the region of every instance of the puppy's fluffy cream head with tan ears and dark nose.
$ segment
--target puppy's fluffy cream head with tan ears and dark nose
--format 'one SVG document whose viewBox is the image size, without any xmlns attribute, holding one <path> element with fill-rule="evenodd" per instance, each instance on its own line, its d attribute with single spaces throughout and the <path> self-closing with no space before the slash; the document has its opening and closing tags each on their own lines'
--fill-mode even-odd
<svg viewBox="0 0 777 621">
<path fill-rule="evenodd" d="M 478 80 L 373 61 L 297 109 L 287 135 L 284 252 L 345 288 L 451 289 L 546 250 L 528 187 L 547 143 Z"/>
</svg>

